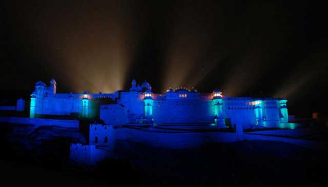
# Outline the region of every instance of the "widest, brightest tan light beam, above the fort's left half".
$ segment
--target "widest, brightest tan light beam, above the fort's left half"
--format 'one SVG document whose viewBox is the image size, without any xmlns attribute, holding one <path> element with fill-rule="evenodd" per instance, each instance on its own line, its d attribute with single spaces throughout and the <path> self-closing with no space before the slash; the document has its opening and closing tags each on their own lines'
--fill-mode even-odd
<svg viewBox="0 0 328 187">
<path fill-rule="evenodd" d="M 52 56 L 48 68 L 62 75 L 54 77 L 58 88 L 65 81 L 73 92 L 124 89 L 134 38 L 132 20 L 126 19 L 121 6 L 119 2 L 87 2 L 74 4 L 73 12 L 68 6 L 61 12 L 49 8 L 44 13 L 44 28 L 39 30 L 45 35 L 44 52 Z"/>
</svg>

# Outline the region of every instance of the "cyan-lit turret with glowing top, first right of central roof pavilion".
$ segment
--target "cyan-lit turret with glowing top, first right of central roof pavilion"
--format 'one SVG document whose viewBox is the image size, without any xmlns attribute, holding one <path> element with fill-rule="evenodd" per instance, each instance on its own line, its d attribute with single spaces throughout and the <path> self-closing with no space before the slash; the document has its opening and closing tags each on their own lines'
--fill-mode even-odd
<svg viewBox="0 0 328 187">
<path fill-rule="evenodd" d="M 213 95 L 213 110 L 214 110 L 214 123 L 217 123 L 219 126 L 225 127 L 224 118 L 222 114 L 222 92 L 215 90 L 212 93 Z"/>
</svg>

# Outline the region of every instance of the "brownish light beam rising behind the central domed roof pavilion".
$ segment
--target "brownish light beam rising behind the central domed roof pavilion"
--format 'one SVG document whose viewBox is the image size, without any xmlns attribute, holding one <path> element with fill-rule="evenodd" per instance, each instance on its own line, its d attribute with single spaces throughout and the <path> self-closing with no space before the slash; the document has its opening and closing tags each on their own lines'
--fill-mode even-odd
<svg viewBox="0 0 328 187">
<path fill-rule="evenodd" d="M 204 54 L 208 53 L 214 38 L 219 36 L 220 31 L 213 25 L 221 24 L 222 20 L 213 17 L 221 15 L 222 12 L 220 9 L 203 12 L 199 6 L 204 5 L 183 5 L 183 8 L 180 7 L 174 12 L 174 20 L 170 22 L 173 24 L 169 26 L 169 47 L 165 60 L 167 66 L 161 84 L 162 91 L 169 87 L 196 86 L 201 77 L 215 66 L 216 61 L 209 60 Z M 208 7 L 211 7 L 211 4 Z"/>
</svg>

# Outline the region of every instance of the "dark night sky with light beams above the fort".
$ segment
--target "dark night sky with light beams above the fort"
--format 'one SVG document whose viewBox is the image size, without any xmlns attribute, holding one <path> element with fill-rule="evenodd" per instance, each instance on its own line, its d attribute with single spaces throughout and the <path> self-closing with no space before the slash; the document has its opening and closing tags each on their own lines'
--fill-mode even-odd
<svg viewBox="0 0 328 187">
<path fill-rule="evenodd" d="M 1 90 L 220 89 L 326 114 L 325 8 L 312 1 L 5 1 Z"/>
</svg>

